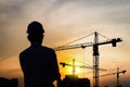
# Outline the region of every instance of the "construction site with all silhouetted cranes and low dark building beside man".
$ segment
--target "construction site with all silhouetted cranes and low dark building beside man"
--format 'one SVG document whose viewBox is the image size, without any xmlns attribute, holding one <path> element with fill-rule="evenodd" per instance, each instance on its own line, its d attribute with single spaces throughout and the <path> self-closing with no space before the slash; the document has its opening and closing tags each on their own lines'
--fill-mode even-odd
<svg viewBox="0 0 130 87">
<path fill-rule="evenodd" d="M 94 37 L 92 42 L 87 41 L 87 42 L 82 42 L 82 44 L 74 44 L 83 38 L 88 38 L 89 36 Z M 99 36 L 106 38 L 106 40 L 100 41 Z M 66 61 L 60 61 L 60 65 L 63 69 L 66 66 L 72 67 L 72 74 L 65 75 L 65 77 L 62 80 L 57 82 L 57 87 L 101 87 L 100 83 L 102 83 L 102 82 L 100 82 L 100 78 L 105 77 L 105 76 L 107 77 L 110 75 L 115 75 L 115 78 L 116 78 L 116 85 L 114 85 L 113 87 L 123 87 L 120 84 L 120 74 L 125 74 L 127 72 L 126 70 L 120 70 L 118 66 L 116 66 L 116 72 L 110 72 L 110 73 L 105 72 L 104 74 L 100 74 L 100 71 L 108 71 L 108 70 L 101 69 L 101 67 L 103 67 L 100 64 L 100 53 L 102 53 L 102 52 L 100 51 L 99 47 L 104 46 L 104 45 L 112 45 L 112 47 L 117 47 L 117 44 L 121 42 L 121 41 L 122 41 L 121 38 L 109 39 L 106 36 L 103 36 L 101 34 L 99 34 L 98 32 L 94 32 L 90 35 L 83 36 L 83 37 L 73 40 L 68 44 L 65 44 L 63 46 L 54 48 L 54 50 L 56 52 L 72 50 L 72 49 L 80 49 L 80 48 L 81 49 L 92 48 L 92 58 L 93 58 L 91 65 L 84 64 L 84 62 L 86 62 L 84 60 L 81 61 L 82 64 L 77 65 L 76 61 L 78 61 L 78 60 L 76 60 L 75 58 L 70 59 L 72 63 L 68 63 Z M 89 79 L 88 77 L 78 77 L 78 75 L 76 74 L 77 67 L 83 69 L 83 70 L 84 69 L 92 70 L 92 79 Z M 84 71 L 82 71 L 82 72 L 84 72 Z M 105 87 L 109 87 L 109 86 L 106 85 Z"/>
</svg>

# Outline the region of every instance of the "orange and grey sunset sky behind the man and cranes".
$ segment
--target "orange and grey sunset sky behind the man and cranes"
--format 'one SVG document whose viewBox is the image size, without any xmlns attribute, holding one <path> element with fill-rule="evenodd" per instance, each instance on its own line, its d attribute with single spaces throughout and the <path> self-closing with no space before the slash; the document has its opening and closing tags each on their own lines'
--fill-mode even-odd
<svg viewBox="0 0 130 87">
<path fill-rule="evenodd" d="M 26 29 L 31 21 L 43 24 L 46 35 L 42 45 L 51 48 L 94 32 L 107 38 L 122 38 L 116 48 L 112 45 L 100 47 L 100 67 L 107 70 L 100 74 L 116 72 L 117 67 L 127 70 L 125 75 L 120 74 L 120 84 L 130 86 L 130 0 L 0 0 L 0 77 L 23 77 L 18 54 L 29 46 Z M 91 35 L 80 42 L 93 40 Z M 107 39 L 101 37 L 101 40 Z M 91 47 L 56 54 L 58 62 L 76 59 L 92 66 Z M 62 75 L 69 74 L 67 67 L 60 69 Z M 92 70 L 80 71 L 79 76 L 92 82 Z M 100 84 L 102 87 L 116 86 L 116 75 L 102 77 Z"/>
</svg>

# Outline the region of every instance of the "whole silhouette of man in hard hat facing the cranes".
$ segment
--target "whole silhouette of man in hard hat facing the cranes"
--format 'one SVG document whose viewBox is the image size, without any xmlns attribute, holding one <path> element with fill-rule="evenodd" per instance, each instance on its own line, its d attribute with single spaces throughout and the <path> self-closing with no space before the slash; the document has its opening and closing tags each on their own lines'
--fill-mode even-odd
<svg viewBox="0 0 130 87">
<path fill-rule="evenodd" d="M 54 87 L 53 82 L 60 79 L 57 59 L 53 49 L 42 46 L 43 26 L 34 21 L 27 34 L 30 47 L 20 53 L 25 87 Z"/>
</svg>

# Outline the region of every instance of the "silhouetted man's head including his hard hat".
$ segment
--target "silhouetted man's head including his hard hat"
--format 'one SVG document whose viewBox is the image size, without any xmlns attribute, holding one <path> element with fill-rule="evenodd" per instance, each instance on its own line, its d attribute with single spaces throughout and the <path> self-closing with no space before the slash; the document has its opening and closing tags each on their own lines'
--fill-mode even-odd
<svg viewBox="0 0 130 87">
<path fill-rule="evenodd" d="M 43 26 L 39 22 L 34 21 L 27 26 L 28 40 L 30 42 L 42 44 L 43 33 Z"/>
</svg>

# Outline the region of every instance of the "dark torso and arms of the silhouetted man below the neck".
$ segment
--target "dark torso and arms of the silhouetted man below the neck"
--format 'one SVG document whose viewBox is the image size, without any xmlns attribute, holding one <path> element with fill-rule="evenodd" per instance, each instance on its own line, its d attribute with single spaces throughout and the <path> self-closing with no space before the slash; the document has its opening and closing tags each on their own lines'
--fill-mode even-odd
<svg viewBox="0 0 130 87">
<path fill-rule="evenodd" d="M 54 79 L 58 78 L 56 55 L 50 48 L 32 44 L 20 54 L 20 61 L 26 87 L 46 87 L 46 85 L 51 85 Z"/>
</svg>

